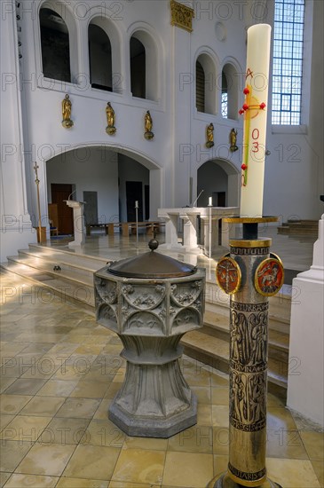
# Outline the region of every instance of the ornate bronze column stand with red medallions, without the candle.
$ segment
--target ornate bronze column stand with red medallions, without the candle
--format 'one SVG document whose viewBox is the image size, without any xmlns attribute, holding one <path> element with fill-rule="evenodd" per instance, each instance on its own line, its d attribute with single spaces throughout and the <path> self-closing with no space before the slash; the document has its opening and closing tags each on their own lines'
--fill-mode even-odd
<svg viewBox="0 0 324 488">
<path fill-rule="evenodd" d="M 242 239 L 217 263 L 218 285 L 230 296 L 229 462 L 209 488 L 281 488 L 266 477 L 266 393 L 269 296 L 283 284 L 281 259 L 258 224 L 278 217 L 225 218 L 242 224 Z"/>
</svg>

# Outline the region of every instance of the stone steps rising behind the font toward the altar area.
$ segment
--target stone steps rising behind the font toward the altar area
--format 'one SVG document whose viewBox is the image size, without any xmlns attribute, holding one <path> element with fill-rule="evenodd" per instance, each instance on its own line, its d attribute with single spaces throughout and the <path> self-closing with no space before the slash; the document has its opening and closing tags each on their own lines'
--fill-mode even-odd
<svg viewBox="0 0 324 488">
<path fill-rule="evenodd" d="M 94 314 L 93 273 L 106 264 L 104 258 L 31 244 L 1 267 Z M 290 301 L 282 293 L 269 300 L 268 389 L 281 397 L 287 393 Z M 229 296 L 215 282 L 206 283 L 202 329 L 186 333 L 181 342 L 187 356 L 228 373 Z"/>
</svg>

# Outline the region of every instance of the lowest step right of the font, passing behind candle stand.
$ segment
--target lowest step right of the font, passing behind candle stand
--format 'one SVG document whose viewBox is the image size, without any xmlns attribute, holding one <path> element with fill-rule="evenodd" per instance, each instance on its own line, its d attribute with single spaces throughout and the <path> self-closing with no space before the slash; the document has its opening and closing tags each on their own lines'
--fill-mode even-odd
<svg viewBox="0 0 324 488">
<path fill-rule="evenodd" d="M 190 358 L 229 373 L 229 342 L 203 334 L 201 331 L 186 333 L 181 339 L 184 353 Z M 283 399 L 287 396 L 288 364 L 268 359 L 268 390 Z"/>
</svg>

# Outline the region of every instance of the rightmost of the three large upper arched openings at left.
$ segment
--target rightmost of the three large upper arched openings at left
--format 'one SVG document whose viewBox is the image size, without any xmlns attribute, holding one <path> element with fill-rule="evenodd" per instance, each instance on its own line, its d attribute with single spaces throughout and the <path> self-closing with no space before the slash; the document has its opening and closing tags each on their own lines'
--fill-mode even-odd
<svg viewBox="0 0 324 488">
<path fill-rule="evenodd" d="M 130 91 L 133 97 L 158 99 L 158 53 L 154 38 L 144 30 L 130 35 Z"/>
</svg>

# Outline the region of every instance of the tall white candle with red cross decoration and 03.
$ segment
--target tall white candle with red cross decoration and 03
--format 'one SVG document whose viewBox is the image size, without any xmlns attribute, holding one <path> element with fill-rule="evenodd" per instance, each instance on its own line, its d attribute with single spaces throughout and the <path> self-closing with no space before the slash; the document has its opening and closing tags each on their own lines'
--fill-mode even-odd
<svg viewBox="0 0 324 488">
<path fill-rule="evenodd" d="M 248 29 L 241 165 L 241 216 L 262 216 L 265 177 L 265 136 L 269 83 L 271 27 Z"/>
</svg>

